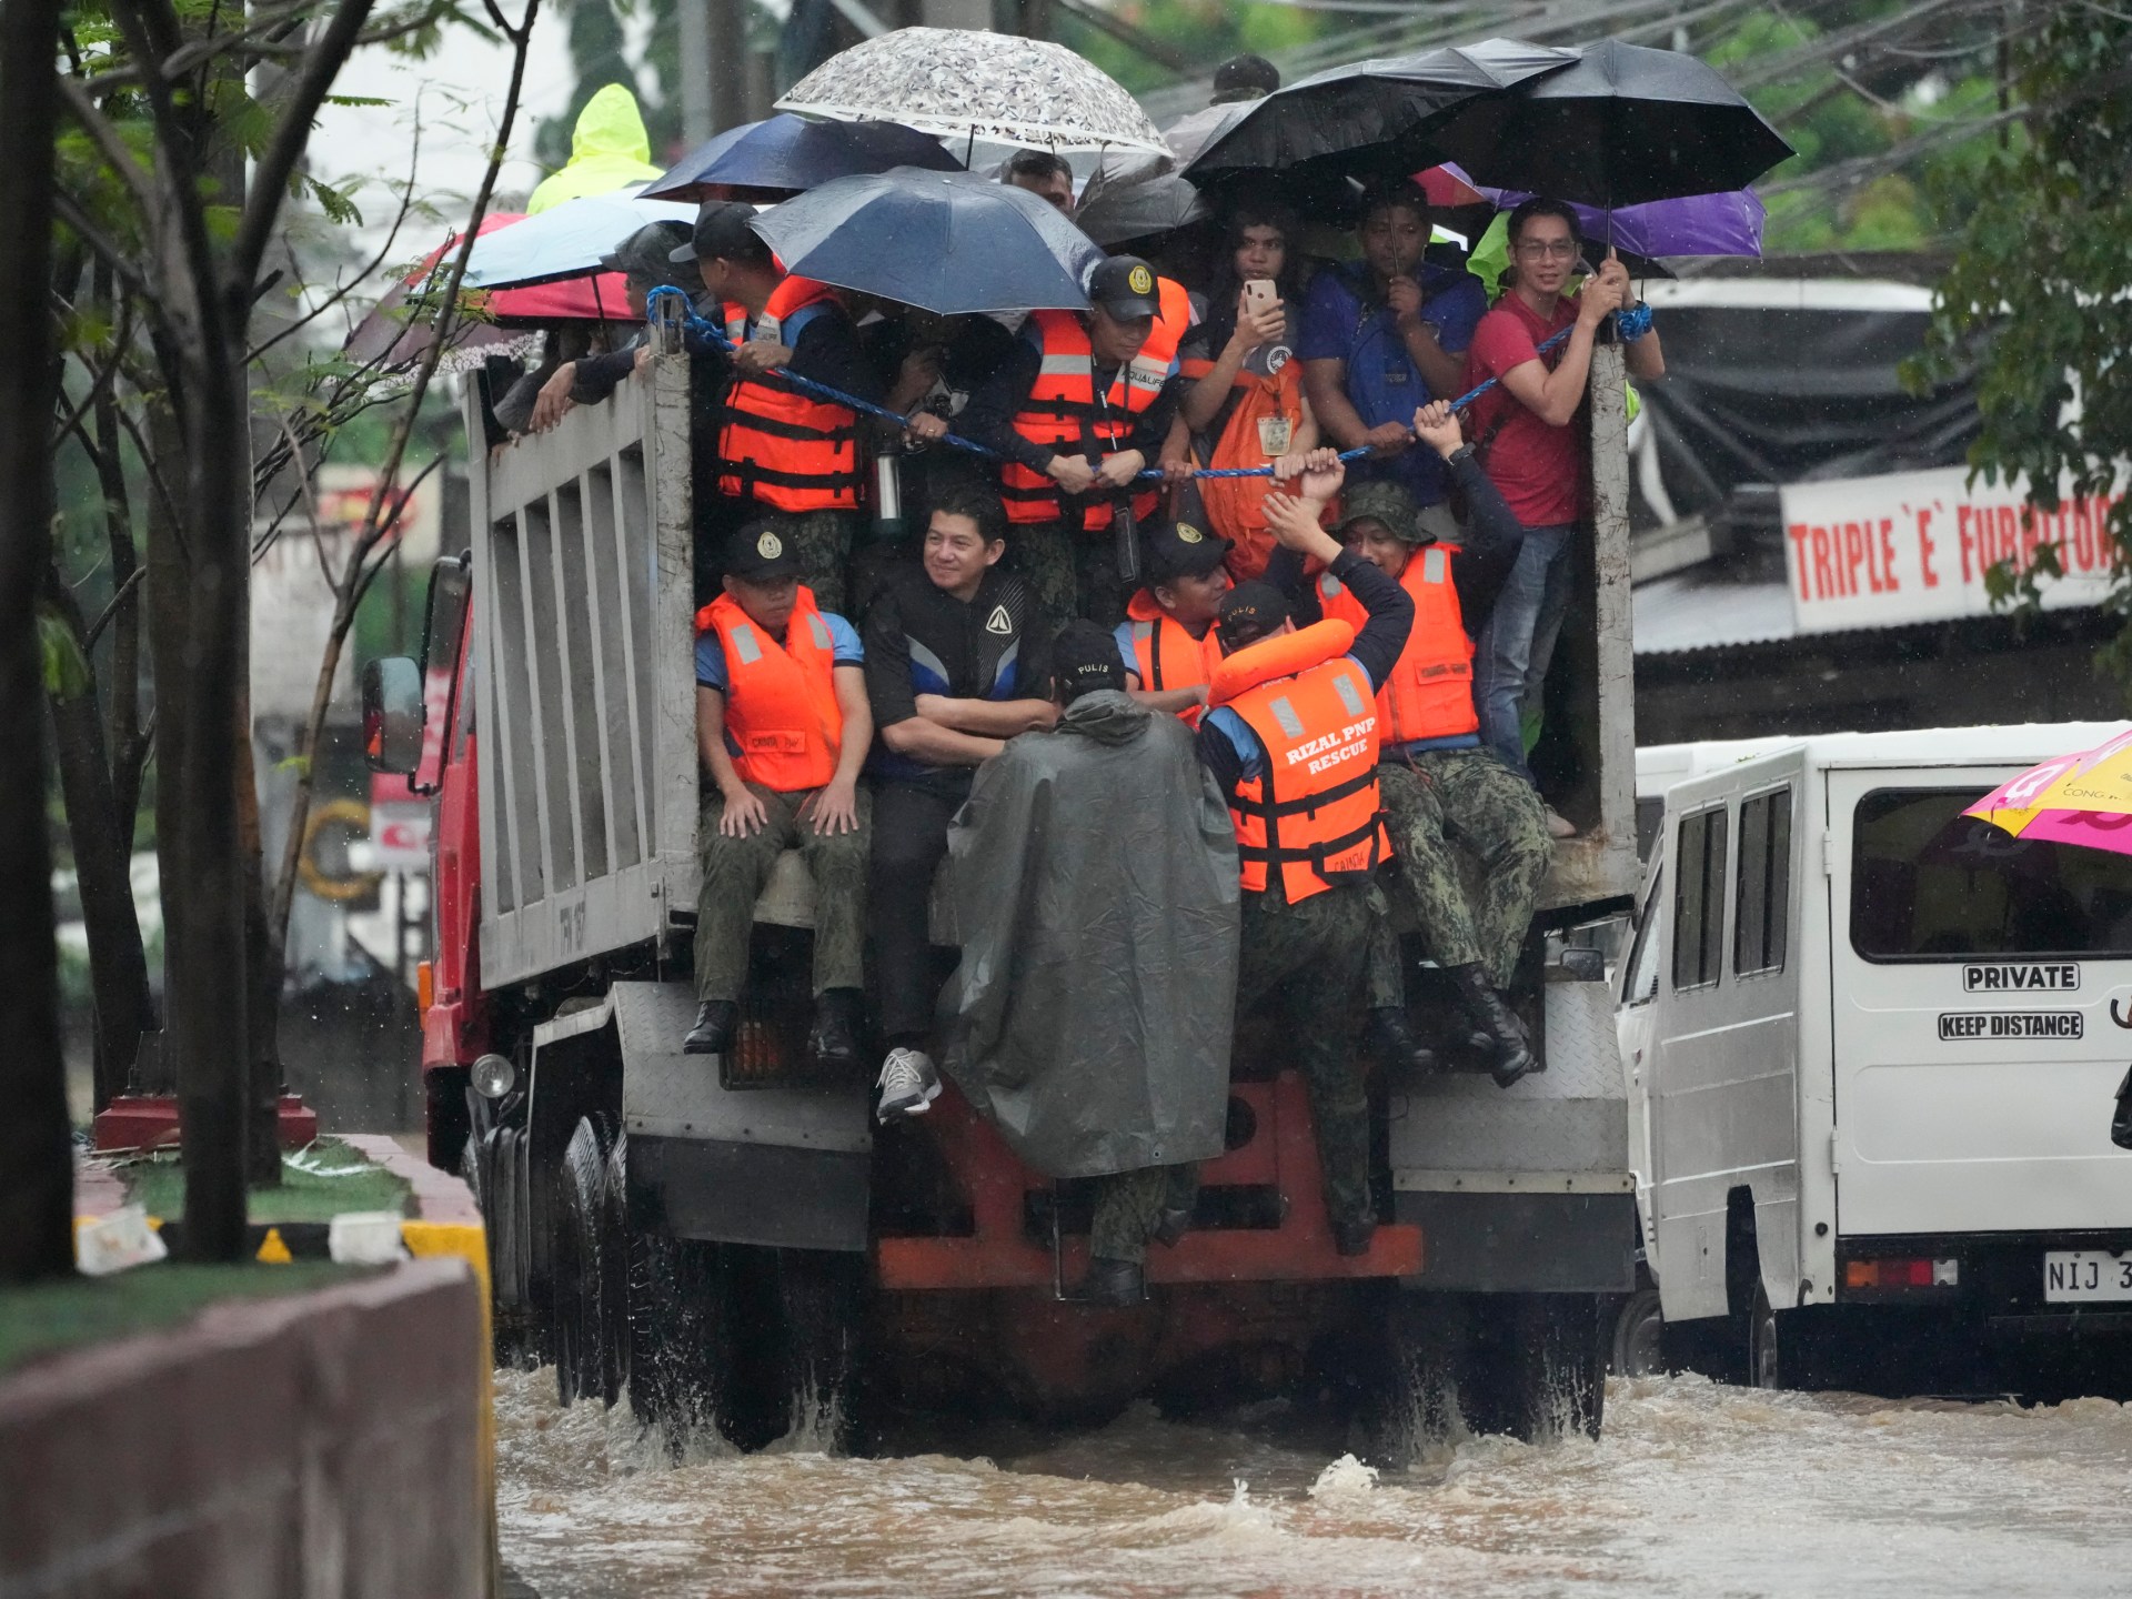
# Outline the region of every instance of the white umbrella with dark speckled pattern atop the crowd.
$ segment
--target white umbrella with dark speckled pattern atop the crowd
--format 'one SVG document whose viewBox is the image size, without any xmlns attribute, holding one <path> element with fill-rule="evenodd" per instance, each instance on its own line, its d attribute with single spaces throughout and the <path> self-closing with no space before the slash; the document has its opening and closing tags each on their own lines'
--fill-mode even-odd
<svg viewBox="0 0 2132 1599">
<path fill-rule="evenodd" d="M 968 28 L 898 28 L 853 45 L 793 83 L 778 111 L 1032 149 L 1170 156 L 1134 98 L 1064 45 Z"/>
</svg>

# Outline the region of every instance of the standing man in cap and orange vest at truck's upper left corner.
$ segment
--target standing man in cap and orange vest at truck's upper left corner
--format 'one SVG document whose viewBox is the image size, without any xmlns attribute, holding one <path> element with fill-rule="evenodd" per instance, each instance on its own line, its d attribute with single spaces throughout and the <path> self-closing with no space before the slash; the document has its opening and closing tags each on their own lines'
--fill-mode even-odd
<svg viewBox="0 0 2132 1599">
<path fill-rule="evenodd" d="M 738 382 L 718 429 L 718 495 L 729 516 L 780 514 L 800 574 L 827 610 L 844 605 L 844 561 L 866 497 L 859 414 L 765 379 L 772 367 L 881 403 L 883 382 L 851 316 L 827 284 L 785 273 L 748 222 L 753 207 L 712 200 L 695 222 L 691 254 L 704 286 L 746 311 L 733 356 Z"/>
</svg>

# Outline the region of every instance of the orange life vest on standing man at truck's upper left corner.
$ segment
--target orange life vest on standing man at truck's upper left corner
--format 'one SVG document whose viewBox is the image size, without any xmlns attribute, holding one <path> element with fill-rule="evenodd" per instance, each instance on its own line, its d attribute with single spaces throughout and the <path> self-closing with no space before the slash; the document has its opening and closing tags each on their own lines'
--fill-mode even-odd
<svg viewBox="0 0 2132 1599">
<path fill-rule="evenodd" d="M 827 284 L 785 277 L 770 290 L 755 337 L 782 341 L 797 311 L 825 301 L 834 301 Z M 718 433 L 721 495 L 746 495 L 780 512 L 851 512 L 861 486 L 857 411 L 778 382 L 733 384 Z"/>
</svg>

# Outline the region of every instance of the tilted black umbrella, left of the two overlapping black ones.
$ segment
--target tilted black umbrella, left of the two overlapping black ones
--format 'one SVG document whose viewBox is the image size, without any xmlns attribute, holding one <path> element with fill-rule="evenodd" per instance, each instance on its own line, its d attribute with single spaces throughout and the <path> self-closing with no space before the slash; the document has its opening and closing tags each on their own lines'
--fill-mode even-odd
<svg viewBox="0 0 2132 1599">
<path fill-rule="evenodd" d="M 1576 51 L 1490 38 L 1335 66 L 1254 100 L 1183 175 L 1205 185 L 1266 168 L 1305 168 L 1318 179 L 1416 173 L 1439 160 L 1428 130 L 1445 113 L 1576 60 Z"/>
</svg>

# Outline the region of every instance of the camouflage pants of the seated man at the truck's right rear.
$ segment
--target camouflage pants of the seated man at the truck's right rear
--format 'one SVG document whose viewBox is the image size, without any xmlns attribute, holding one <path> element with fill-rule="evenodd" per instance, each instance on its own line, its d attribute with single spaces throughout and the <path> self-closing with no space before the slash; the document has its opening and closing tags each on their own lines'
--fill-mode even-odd
<svg viewBox="0 0 2132 1599">
<path fill-rule="evenodd" d="M 1490 750 L 1424 750 L 1414 765 L 1386 761 L 1377 791 L 1399 859 L 1394 893 L 1414 910 L 1431 959 L 1477 962 L 1497 987 L 1507 985 L 1554 857 L 1539 793 Z M 1480 863 L 1471 904 L 1456 846 Z M 1371 932 L 1369 1002 L 1401 1000 L 1399 940 L 1386 923 Z"/>
</svg>

